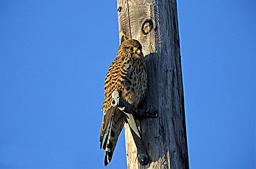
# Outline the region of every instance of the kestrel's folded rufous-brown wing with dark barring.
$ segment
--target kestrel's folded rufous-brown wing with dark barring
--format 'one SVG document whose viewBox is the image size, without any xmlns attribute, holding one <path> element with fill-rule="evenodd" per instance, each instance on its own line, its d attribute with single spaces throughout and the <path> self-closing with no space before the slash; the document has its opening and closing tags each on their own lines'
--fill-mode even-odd
<svg viewBox="0 0 256 169">
<path fill-rule="evenodd" d="M 112 92 L 115 90 L 118 92 L 122 91 L 121 82 L 124 78 L 124 73 L 121 69 L 122 57 L 116 57 L 109 67 L 106 79 L 105 79 L 105 99 L 102 106 L 103 119 L 100 129 L 100 148 L 102 147 L 104 136 L 108 130 L 111 122 L 111 118 L 114 114 L 115 108 L 111 106 Z M 106 138 L 107 139 L 107 138 Z"/>
</svg>

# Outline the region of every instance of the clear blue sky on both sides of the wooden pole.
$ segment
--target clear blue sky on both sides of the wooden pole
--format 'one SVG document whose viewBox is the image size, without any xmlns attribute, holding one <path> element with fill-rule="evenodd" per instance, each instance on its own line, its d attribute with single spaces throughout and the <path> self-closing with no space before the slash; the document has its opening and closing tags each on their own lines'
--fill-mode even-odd
<svg viewBox="0 0 256 169">
<path fill-rule="evenodd" d="M 256 168 L 256 1 L 178 0 L 191 169 Z M 0 168 L 103 169 L 115 0 L 0 1 Z M 125 169 L 124 132 L 108 169 Z"/>
</svg>

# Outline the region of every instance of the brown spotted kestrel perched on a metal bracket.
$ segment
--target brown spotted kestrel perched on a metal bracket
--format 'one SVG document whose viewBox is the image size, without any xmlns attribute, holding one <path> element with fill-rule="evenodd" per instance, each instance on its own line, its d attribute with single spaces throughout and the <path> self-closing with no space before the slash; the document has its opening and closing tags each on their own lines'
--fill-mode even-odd
<svg viewBox="0 0 256 169">
<path fill-rule="evenodd" d="M 111 106 L 112 92 L 118 91 L 122 98 L 136 107 L 143 100 L 146 88 L 147 72 L 142 45 L 133 39 L 124 41 L 119 46 L 117 56 L 110 65 L 105 79 L 105 99 L 100 130 L 100 148 L 107 133 L 103 143 L 103 149 L 106 149 L 105 167 L 112 159 L 118 136 L 126 121 L 125 115 Z"/>
</svg>

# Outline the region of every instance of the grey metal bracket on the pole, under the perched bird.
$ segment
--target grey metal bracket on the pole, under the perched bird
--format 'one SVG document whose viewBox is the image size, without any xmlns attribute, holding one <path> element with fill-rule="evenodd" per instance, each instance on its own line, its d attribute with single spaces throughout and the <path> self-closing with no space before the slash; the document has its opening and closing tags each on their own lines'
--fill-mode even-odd
<svg viewBox="0 0 256 169">
<path fill-rule="evenodd" d="M 128 103 L 125 99 L 120 97 L 119 93 L 117 91 L 114 91 L 112 93 L 111 104 L 112 104 L 112 106 L 117 107 L 120 111 L 122 111 L 125 114 L 126 119 L 128 121 L 128 125 L 131 130 L 133 140 L 138 149 L 139 162 L 142 165 L 148 164 L 149 157 L 147 155 L 146 148 L 142 141 L 142 136 L 139 131 L 138 125 L 136 124 L 135 116 L 136 117 L 137 116 L 138 117 L 157 117 L 156 108 L 150 107 L 147 110 L 135 108 L 135 107 L 133 107 L 133 105 Z"/>
</svg>

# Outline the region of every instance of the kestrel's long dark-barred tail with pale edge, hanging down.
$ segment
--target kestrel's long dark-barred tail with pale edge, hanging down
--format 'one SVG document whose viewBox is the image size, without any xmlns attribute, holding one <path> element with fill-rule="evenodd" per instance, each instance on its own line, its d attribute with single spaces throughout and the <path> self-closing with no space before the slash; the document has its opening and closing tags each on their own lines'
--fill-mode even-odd
<svg viewBox="0 0 256 169">
<path fill-rule="evenodd" d="M 116 109 L 114 115 L 112 116 L 111 126 L 109 127 L 109 132 L 103 145 L 103 149 L 106 149 L 104 160 L 105 167 L 112 159 L 114 148 L 116 146 L 119 134 L 124 127 L 125 120 L 125 115 Z"/>
</svg>

